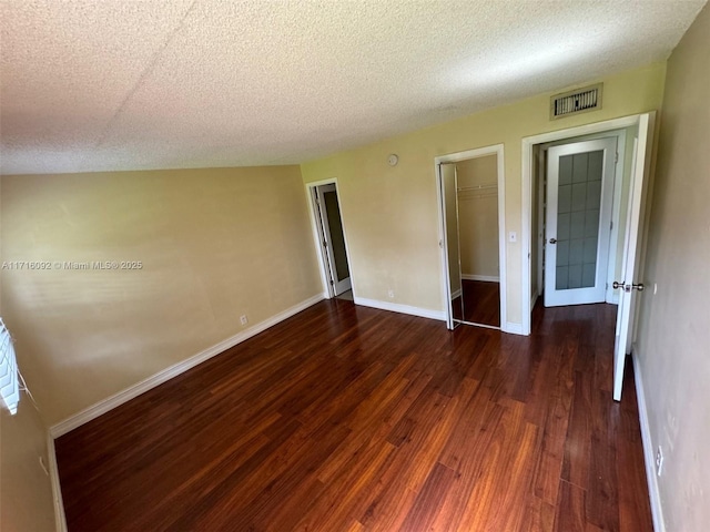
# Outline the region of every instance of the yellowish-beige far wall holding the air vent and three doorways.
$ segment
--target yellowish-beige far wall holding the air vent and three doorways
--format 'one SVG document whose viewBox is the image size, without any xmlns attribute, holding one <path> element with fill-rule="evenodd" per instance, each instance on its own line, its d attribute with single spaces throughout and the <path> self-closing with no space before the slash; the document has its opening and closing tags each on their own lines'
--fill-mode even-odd
<svg viewBox="0 0 710 532">
<path fill-rule="evenodd" d="M 660 108 L 663 63 L 605 82 L 604 109 L 550 122 L 542 94 L 301 166 L 305 182 L 337 177 L 356 296 L 443 310 L 434 157 L 505 145 L 507 321 L 521 324 L 521 139 Z M 594 81 L 594 80 L 590 80 Z M 562 88 L 559 88 L 560 90 Z M 555 91 L 558 92 L 558 91 Z M 387 154 L 399 164 L 387 165 Z"/>
</svg>

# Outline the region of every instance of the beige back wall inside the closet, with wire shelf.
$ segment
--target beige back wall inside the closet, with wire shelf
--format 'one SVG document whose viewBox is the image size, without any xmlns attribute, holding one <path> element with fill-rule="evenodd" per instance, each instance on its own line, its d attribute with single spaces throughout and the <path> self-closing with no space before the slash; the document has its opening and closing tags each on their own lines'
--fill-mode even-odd
<svg viewBox="0 0 710 532">
<path fill-rule="evenodd" d="M 456 163 L 458 186 L 462 274 L 498 277 L 498 194 L 497 188 L 466 188 L 498 184 L 498 157 L 470 158 Z"/>
</svg>

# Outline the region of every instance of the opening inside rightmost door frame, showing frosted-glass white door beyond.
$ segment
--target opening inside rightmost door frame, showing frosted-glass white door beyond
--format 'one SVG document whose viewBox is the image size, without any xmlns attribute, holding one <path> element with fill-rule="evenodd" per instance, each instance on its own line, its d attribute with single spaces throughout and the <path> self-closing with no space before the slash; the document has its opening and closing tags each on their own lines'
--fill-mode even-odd
<svg viewBox="0 0 710 532">
<path fill-rule="evenodd" d="M 637 132 L 633 125 L 534 146 L 530 308 L 538 297 L 546 306 L 619 303 L 612 284 L 621 268 Z M 580 183 L 588 171 L 602 178 Z"/>
</svg>

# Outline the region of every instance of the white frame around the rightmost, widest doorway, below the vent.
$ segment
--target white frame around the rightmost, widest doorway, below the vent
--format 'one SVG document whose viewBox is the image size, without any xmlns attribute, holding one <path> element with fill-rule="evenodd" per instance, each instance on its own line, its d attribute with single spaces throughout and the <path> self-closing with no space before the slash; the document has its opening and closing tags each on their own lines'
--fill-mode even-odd
<svg viewBox="0 0 710 532">
<path fill-rule="evenodd" d="M 530 334 L 530 246 L 531 246 L 531 225 L 532 225 L 532 167 L 535 164 L 534 150 L 536 144 L 545 144 L 548 142 L 560 141 L 564 139 L 570 139 L 581 135 L 589 135 L 594 133 L 611 132 L 613 130 L 620 130 L 630 127 L 632 125 L 639 125 L 642 115 L 650 115 L 651 113 L 639 113 L 631 116 L 623 116 L 620 119 L 607 120 L 604 122 L 596 122 L 594 124 L 580 125 L 577 127 L 569 127 L 566 130 L 554 131 L 550 133 L 542 133 L 539 135 L 526 136 L 523 139 L 523 201 L 521 201 L 521 236 L 520 236 L 520 308 L 523 309 L 521 316 L 521 332 L 524 335 Z"/>
</svg>

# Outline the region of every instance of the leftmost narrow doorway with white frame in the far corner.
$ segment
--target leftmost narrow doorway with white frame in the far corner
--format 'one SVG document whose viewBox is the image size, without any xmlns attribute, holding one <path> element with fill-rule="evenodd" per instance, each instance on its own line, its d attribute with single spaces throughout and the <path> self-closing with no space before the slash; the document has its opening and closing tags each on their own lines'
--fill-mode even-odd
<svg viewBox="0 0 710 532">
<path fill-rule="evenodd" d="M 324 294 L 328 298 L 341 296 L 352 299 L 351 265 L 336 182 L 310 184 L 307 191 L 315 242 L 321 252 L 318 258 Z"/>
</svg>

